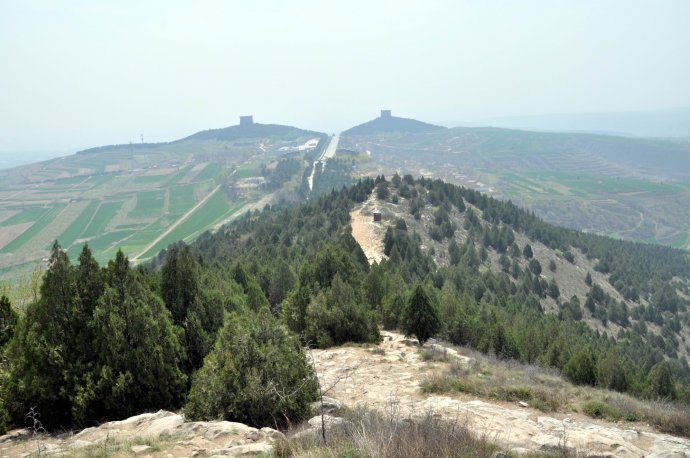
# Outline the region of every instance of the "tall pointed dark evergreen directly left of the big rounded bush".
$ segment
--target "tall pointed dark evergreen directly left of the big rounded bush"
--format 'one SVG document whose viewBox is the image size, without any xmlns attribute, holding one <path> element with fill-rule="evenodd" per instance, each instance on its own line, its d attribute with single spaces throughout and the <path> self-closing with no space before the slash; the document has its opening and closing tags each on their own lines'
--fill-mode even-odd
<svg viewBox="0 0 690 458">
<path fill-rule="evenodd" d="M 165 304 L 144 288 L 118 252 L 94 310 L 96 365 L 84 398 L 87 418 L 122 418 L 146 409 L 179 407 L 184 351 Z"/>
</svg>

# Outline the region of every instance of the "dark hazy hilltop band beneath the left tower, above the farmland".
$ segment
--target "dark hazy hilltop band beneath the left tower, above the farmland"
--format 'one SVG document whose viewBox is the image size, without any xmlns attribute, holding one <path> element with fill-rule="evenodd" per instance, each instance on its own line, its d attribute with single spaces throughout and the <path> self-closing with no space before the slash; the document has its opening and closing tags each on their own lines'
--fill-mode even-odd
<svg viewBox="0 0 690 458">
<path fill-rule="evenodd" d="M 247 124 L 238 124 L 220 129 L 202 130 L 201 132 L 197 132 L 188 137 L 184 137 L 171 142 L 127 143 L 120 145 L 97 146 L 95 148 L 89 148 L 82 151 L 78 151 L 77 154 L 94 154 L 103 153 L 107 151 L 151 149 L 160 146 L 176 145 L 188 141 L 233 141 L 250 138 L 279 138 L 281 140 L 293 140 L 307 135 L 319 137 L 324 134 L 320 132 L 314 132 L 310 130 L 304 130 L 299 129 L 297 127 L 284 126 L 280 124 L 259 124 L 254 122 L 248 122 Z"/>
</svg>

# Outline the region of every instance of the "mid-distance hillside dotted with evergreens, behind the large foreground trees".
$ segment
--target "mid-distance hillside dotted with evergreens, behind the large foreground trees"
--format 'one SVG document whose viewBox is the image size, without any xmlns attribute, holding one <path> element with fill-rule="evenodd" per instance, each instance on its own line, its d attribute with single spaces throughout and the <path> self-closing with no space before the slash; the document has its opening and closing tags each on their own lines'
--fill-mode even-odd
<svg viewBox="0 0 690 458">
<path fill-rule="evenodd" d="M 380 196 L 396 202 L 412 218 L 421 218 L 425 206 L 433 208 L 429 237 L 451 240 L 447 265 L 437 265 L 432 253 L 422 248 L 422 236 L 398 221 L 390 224 L 385 236 L 388 260 L 367 266 L 350 234 L 349 211 L 382 187 L 387 191 Z M 458 213 L 462 219 L 450 217 Z M 454 240 L 459 221 L 471 234 L 461 244 Z M 607 285 L 591 283 L 582 300 L 562 297 L 559 285 L 542 275 L 551 266 L 531 259 L 529 243 L 518 246 L 517 236 L 534 240 L 564 262 L 575 262 L 577 253 Z M 390 183 L 365 180 L 305 206 L 253 214 L 222 233 L 201 238 L 194 250 L 202 259 L 221 264 L 241 259 L 265 290 L 280 290 L 275 283 L 286 275 L 278 270 L 292 272 L 294 286 L 285 288 L 289 291 L 277 295 L 271 305 L 295 332 L 304 333 L 315 326 L 317 317 L 321 320 L 310 312 L 316 312 L 321 293 L 328 296 L 336 274 L 355 294 L 359 290 L 361 300 L 390 328 L 404 326 L 400 319 L 407 291 L 421 282 L 441 314 L 438 335 L 451 342 L 557 367 L 576 382 L 639 396 L 669 394 L 654 392 L 648 375 L 664 367 L 676 381 L 674 395 L 688 395 L 690 262 L 684 251 L 558 228 L 509 202 L 409 176 L 396 176 Z M 336 262 L 337 252 L 349 253 L 359 270 L 339 267 L 350 263 Z M 490 255 L 502 268 L 491 269 Z M 314 270 L 323 272 L 318 283 Z M 586 284 L 586 272 L 582 277 Z M 545 310 L 546 299 L 557 309 Z M 587 377 L 574 372 L 580 359 L 591 369 Z M 610 380 L 612 368 L 621 374 L 615 381 Z"/>
</svg>

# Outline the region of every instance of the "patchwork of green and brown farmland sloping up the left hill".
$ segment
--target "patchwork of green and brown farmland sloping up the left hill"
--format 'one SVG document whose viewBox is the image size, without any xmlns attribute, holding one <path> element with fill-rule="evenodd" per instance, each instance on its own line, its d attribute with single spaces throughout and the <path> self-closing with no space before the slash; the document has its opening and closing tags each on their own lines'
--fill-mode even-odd
<svg viewBox="0 0 690 458">
<path fill-rule="evenodd" d="M 319 135 L 234 126 L 0 170 L 0 286 L 44 266 L 55 240 L 73 262 L 88 243 L 100 263 L 119 249 L 145 262 L 171 243 L 190 242 L 266 198 L 260 187 L 235 190 L 237 180 L 261 176 L 284 154 L 279 147 Z"/>
</svg>

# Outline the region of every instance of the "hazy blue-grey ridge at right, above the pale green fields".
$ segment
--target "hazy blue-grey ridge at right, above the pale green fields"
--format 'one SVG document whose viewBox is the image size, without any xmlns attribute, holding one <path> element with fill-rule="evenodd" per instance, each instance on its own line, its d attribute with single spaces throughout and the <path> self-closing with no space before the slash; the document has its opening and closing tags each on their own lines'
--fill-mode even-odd
<svg viewBox="0 0 690 458">
<path fill-rule="evenodd" d="M 380 118 L 379 118 L 380 119 Z M 366 137 L 368 134 L 356 134 Z M 461 161 L 464 166 L 501 170 L 577 171 L 611 176 L 690 180 L 690 144 L 676 139 L 601 134 L 534 132 L 498 127 L 454 127 L 404 137 L 344 138 L 343 148 L 367 145 L 398 159 Z"/>
</svg>

